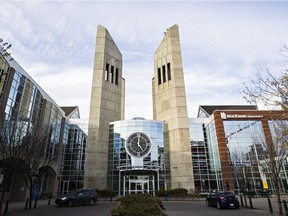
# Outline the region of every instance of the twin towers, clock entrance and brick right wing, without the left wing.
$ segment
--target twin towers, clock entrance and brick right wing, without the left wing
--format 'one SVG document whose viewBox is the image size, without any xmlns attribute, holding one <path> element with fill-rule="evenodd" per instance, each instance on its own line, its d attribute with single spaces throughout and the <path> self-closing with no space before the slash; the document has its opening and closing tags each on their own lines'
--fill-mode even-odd
<svg viewBox="0 0 288 216">
<path fill-rule="evenodd" d="M 200 106 L 198 117 L 189 119 L 179 30 L 174 25 L 154 55 L 153 120 L 123 120 L 124 84 L 116 85 L 113 72 L 119 68 L 121 75 L 116 77 L 122 78 L 121 59 L 112 37 L 99 26 L 84 186 L 108 188 L 119 195 L 144 190 L 154 194 L 166 187 L 186 188 L 191 193 L 237 190 L 241 184 L 237 170 L 241 169 L 249 189 L 257 193 L 263 188 L 259 166 L 261 155 L 267 154 L 263 143 L 273 133 L 271 122 L 283 112 L 247 105 Z M 154 124 L 162 125 L 159 134 Z M 155 134 L 161 138 L 155 139 Z M 141 140 L 145 140 L 143 146 Z M 283 186 L 287 185 L 285 173 Z"/>
</svg>

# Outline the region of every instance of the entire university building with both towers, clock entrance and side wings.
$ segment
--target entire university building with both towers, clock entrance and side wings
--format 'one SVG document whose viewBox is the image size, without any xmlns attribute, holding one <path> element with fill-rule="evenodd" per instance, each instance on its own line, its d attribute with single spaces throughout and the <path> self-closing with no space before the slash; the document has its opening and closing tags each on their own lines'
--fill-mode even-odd
<svg viewBox="0 0 288 216">
<path fill-rule="evenodd" d="M 80 118 L 77 106 L 57 105 L 2 48 L 1 138 L 11 122 L 25 125 L 14 132 L 21 134 L 19 145 L 27 128 L 47 129 L 46 140 L 39 145 L 45 146 L 53 162 L 39 167 L 35 195 L 65 194 L 83 187 L 110 189 L 118 195 L 143 191 L 155 195 L 164 188 L 186 188 L 189 193 L 237 191 L 239 169 L 245 170 L 248 189 L 256 194 L 263 182 L 268 189 L 275 188 L 260 164 L 267 156 L 265 144 L 273 142 L 274 122 L 286 122 L 286 113 L 251 105 L 208 105 L 199 107 L 196 118 L 189 118 L 177 25 L 166 31 L 154 55 L 152 120 L 125 120 L 122 54 L 103 26 L 97 29 L 88 121 Z M 2 164 L 7 158 L 0 157 Z M 286 163 L 283 189 L 288 189 L 287 170 Z M 25 200 L 28 189 L 23 178 L 15 173 L 7 182 L 5 189 L 1 185 L 7 199 Z"/>
</svg>

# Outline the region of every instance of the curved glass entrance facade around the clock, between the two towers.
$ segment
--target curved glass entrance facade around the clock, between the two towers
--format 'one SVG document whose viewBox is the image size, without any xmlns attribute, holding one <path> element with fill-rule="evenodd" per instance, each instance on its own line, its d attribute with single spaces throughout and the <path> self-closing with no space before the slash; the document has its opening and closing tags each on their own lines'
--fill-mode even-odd
<svg viewBox="0 0 288 216">
<path fill-rule="evenodd" d="M 169 182 L 167 125 L 159 121 L 135 118 L 110 123 L 108 156 L 108 189 L 119 195 L 154 194 Z M 143 132 L 152 140 L 150 153 L 142 158 L 131 157 L 125 148 L 126 139 L 134 132 Z"/>
</svg>

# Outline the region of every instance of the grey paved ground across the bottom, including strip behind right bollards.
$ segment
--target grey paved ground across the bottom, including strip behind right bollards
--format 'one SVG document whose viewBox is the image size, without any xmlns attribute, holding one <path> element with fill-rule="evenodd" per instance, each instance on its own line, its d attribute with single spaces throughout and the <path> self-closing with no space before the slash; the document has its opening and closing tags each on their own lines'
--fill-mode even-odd
<svg viewBox="0 0 288 216">
<path fill-rule="evenodd" d="M 285 200 L 288 197 L 283 197 L 282 199 Z M 288 199 L 286 199 L 288 200 Z M 276 203 L 275 197 L 271 198 L 271 206 L 273 212 L 271 213 L 268 199 L 267 198 L 252 198 L 252 207 L 250 206 L 250 201 L 247 198 L 246 203 L 247 207 L 245 207 L 245 202 L 243 200 L 244 207 L 240 207 L 239 211 L 230 211 L 230 210 L 223 210 L 219 211 L 216 208 L 206 207 L 205 200 L 171 200 L 163 201 L 164 207 L 166 209 L 166 214 L 169 216 L 186 216 L 186 215 L 278 215 L 278 206 Z M 72 208 L 68 207 L 58 207 L 54 203 L 54 199 L 51 200 L 50 205 L 48 205 L 48 200 L 38 200 L 37 207 L 34 208 L 34 203 L 32 205 L 31 210 L 25 210 L 25 202 L 11 202 L 9 203 L 7 215 L 9 216 L 20 216 L 20 215 L 29 215 L 29 216 L 65 216 L 65 215 L 109 215 L 111 210 L 116 207 L 117 201 L 110 201 L 110 200 L 99 200 L 94 206 L 75 206 Z M 5 209 L 5 205 L 3 206 L 3 212 Z M 282 207 L 283 213 L 285 215 L 285 209 Z M 95 214 L 97 212 L 97 214 Z M 84 213 L 84 214 L 83 214 Z"/>
</svg>

